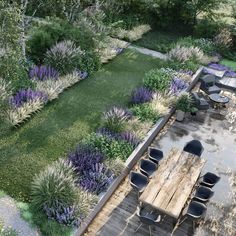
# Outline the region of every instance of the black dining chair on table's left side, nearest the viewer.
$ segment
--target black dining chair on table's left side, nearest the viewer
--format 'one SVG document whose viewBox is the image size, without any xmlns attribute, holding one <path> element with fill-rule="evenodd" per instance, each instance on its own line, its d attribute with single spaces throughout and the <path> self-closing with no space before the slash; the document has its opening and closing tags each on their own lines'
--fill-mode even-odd
<svg viewBox="0 0 236 236">
<path fill-rule="evenodd" d="M 148 178 L 145 175 L 134 171 L 130 172 L 129 181 L 131 186 L 139 193 L 143 192 L 148 184 Z"/>
</svg>

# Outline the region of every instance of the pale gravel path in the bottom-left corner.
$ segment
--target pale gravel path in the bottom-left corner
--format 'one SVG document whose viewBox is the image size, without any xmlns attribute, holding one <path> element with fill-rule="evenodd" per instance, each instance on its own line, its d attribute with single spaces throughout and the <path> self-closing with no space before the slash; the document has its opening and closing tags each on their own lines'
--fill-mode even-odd
<svg viewBox="0 0 236 236">
<path fill-rule="evenodd" d="M 39 236 L 36 229 L 24 221 L 20 216 L 20 211 L 16 207 L 14 200 L 8 196 L 0 198 L 0 220 L 4 227 L 14 229 L 19 236 Z"/>
</svg>

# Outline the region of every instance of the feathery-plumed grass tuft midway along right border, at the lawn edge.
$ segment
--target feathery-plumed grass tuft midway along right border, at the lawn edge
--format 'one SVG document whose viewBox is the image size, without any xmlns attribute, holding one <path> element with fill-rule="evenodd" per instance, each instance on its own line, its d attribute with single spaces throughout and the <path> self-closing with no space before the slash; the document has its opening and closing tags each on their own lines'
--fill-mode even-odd
<svg viewBox="0 0 236 236">
<path fill-rule="evenodd" d="M 131 116 L 129 110 L 114 106 L 104 113 L 104 126 L 113 132 L 120 132 L 124 129 L 125 121 Z"/>
</svg>

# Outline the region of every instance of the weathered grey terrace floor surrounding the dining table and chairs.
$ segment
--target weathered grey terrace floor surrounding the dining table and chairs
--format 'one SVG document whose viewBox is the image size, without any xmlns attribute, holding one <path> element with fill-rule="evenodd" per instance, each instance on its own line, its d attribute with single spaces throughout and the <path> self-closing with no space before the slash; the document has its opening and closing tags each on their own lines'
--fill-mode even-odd
<svg viewBox="0 0 236 236">
<path fill-rule="evenodd" d="M 189 117 L 181 123 L 173 118 L 152 143 L 167 154 L 172 147 L 182 149 L 186 142 L 199 139 L 204 146 L 202 158 L 207 160 L 203 174 L 211 171 L 221 176 L 220 182 L 213 188 L 215 194 L 207 205 L 206 218 L 196 232 L 192 232 L 192 225 L 186 221 L 175 231 L 176 236 L 236 235 L 236 94 L 228 93 L 228 96 L 232 98 L 230 107 L 221 111 L 210 109 L 199 112 L 196 117 Z M 135 233 L 140 224 L 136 216 L 137 205 L 137 194 L 130 187 L 127 177 L 85 235 L 149 235 L 145 225 Z M 167 219 L 160 227 L 152 227 L 152 235 L 168 236 L 171 229 L 171 220 Z"/>
</svg>

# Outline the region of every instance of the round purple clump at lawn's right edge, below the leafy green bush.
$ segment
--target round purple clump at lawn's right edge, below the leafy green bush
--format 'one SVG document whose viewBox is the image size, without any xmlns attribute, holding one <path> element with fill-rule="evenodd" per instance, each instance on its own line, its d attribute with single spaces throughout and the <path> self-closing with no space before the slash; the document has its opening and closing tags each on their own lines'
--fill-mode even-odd
<svg viewBox="0 0 236 236">
<path fill-rule="evenodd" d="M 141 104 L 151 101 L 153 92 L 145 87 L 137 88 L 133 91 L 131 102 L 132 104 Z"/>
</svg>

